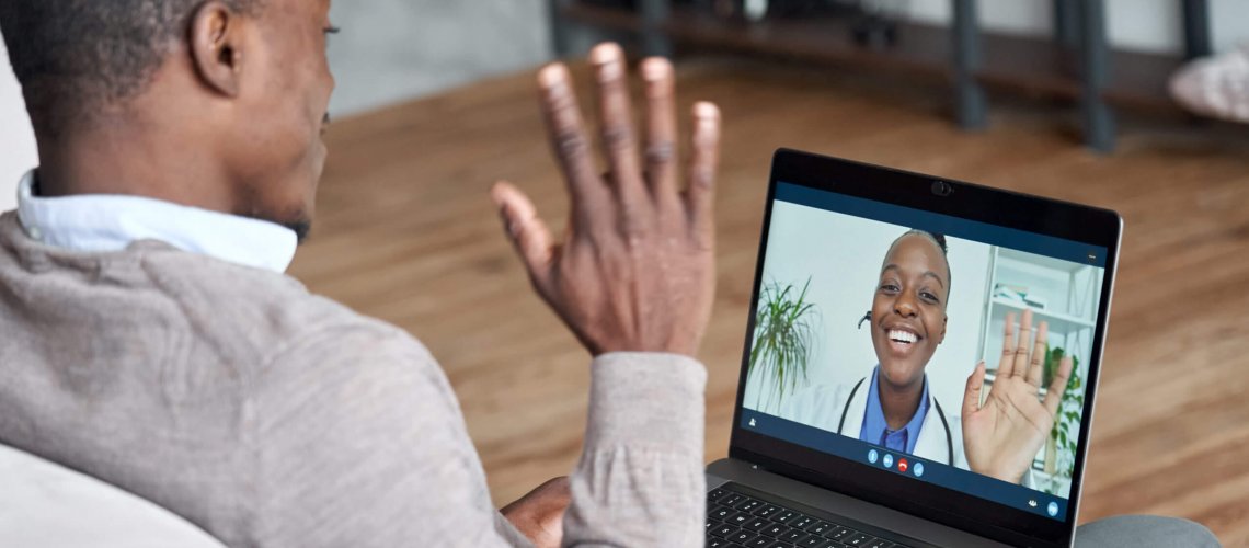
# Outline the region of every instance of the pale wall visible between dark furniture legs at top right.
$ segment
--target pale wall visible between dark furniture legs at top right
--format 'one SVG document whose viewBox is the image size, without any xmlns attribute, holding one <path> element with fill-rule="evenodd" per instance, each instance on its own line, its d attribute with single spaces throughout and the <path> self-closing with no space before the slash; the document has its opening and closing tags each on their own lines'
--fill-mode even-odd
<svg viewBox="0 0 1249 548">
<path fill-rule="evenodd" d="M 1028 35 L 1050 32 L 1050 0 L 982 0 L 978 5 L 985 29 Z M 1105 5 L 1113 45 L 1154 52 L 1178 52 L 1183 47 L 1179 0 L 1107 0 Z M 911 0 L 908 10 L 919 21 L 950 20 L 949 0 Z M 1249 42 L 1249 2 L 1210 0 L 1210 22 L 1215 51 Z"/>
</svg>

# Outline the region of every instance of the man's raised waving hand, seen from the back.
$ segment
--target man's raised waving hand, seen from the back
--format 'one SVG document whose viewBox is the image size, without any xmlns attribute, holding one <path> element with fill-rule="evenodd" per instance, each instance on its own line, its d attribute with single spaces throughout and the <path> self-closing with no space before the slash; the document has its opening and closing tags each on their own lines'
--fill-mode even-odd
<svg viewBox="0 0 1249 548">
<path fill-rule="evenodd" d="M 714 295 L 719 110 L 693 107 L 687 185 L 679 186 L 672 65 L 642 62 L 647 112 L 633 127 L 627 64 L 615 44 L 590 54 L 603 154 L 600 175 L 567 67 L 538 74 L 542 112 L 571 195 L 567 232 L 556 238 L 510 182 L 492 196 L 538 295 L 595 356 L 617 351 L 694 355 Z"/>
</svg>

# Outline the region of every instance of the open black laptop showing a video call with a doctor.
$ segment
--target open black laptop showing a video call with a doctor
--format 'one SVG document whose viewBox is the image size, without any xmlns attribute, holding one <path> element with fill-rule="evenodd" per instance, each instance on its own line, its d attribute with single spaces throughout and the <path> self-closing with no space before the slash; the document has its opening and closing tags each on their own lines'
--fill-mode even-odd
<svg viewBox="0 0 1249 548">
<path fill-rule="evenodd" d="M 1122 230 L 779 150 L 707 546 L 1072 546 Z"/>
</svg>

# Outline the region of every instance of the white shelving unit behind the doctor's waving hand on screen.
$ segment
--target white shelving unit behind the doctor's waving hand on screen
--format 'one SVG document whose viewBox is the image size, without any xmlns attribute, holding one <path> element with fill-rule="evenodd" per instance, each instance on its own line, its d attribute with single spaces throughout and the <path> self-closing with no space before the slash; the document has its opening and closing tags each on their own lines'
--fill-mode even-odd
<svg viewBox="0 0 1249 548">
<path fill-rule="evenodd" d="M 1074 356 L 1079 361 L 1080 377 L 1087 378 L 1103 276 L 1103 268 L 1090 265 L 994 247 L 989 261 L 989 293 L 985 296 L 979 348 L 979 356 L 989 367 L 985 384 L 992 386 L 995 379 L 1007 315 L 1014 313 L 1018 322 L 1027 310 L 1033 312 L 1033 332 L 1029 337 L 1035 335 L 1042 321 L 1047 322 L 1049 347 L 1060 347 Z M 999 296 L 999 286 L 1023 288 L 1029 301 L 1035 303 Z M 1044 387 L 1040 394 L 1045 394 Z M 1033 461 L 1033 474 L 1043 491 L 1065 496 L 1070 491 L 1069 481 L 1060 471 L 1055 471 L 1059 472 L 1055 474 L 1045 472 L 1047 466 L 1057 464 L 1058 457 L 1055 452 L 1048 451 L 1047 443 Z"/>
</svg>

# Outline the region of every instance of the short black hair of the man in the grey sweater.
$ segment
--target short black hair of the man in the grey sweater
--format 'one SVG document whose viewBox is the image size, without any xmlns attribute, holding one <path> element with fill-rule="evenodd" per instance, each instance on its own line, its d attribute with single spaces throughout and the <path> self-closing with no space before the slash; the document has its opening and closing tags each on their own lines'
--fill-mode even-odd
<svg viewBox="0 0 1249 548">
<path fill-rule="evenodd" d="M 36 129 L 141 92 L 205 0 L 0 0 L 0 32 Z M 225 0 L 249 12 L 261 0 Z"/>
</svg>

